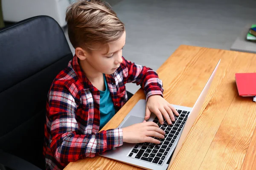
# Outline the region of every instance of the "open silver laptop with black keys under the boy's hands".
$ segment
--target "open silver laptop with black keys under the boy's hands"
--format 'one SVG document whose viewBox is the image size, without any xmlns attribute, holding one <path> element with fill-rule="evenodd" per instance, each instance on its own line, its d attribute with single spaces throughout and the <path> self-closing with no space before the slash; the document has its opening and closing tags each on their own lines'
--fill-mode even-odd
<svg viewBox="0 0 256 170">
<path fill-rule="evenodd" d="M 137 144 L 124 143 L 122 146 L 115 147 L 112 150 L 101 153 L 100 155 L 144 169 L 166 170 L 177 156 L 177 153 L 182 147 L 189 130 L 201 111 L 203 102 L 209 91 L 220 61 L 221 60 L 218 61 L 218 64 L 209 77 L 193 108 L 173 105 L 180 116 L 175 115 L 175 122 L 172 122 L 172 125 L 168 125 L 165 119 L 164 124 L 161 125 L 155 114 L 151 113 L 148 121 L 157 123 L 157 125 L 166 132 L 164 139 L 158 139 L 161 142 L 160 144 L 148 142 Z M 127 127 L 135 123 L 143 122 L 145 117 L 145 107 L 146 101 L 144 99 L 139 100 L 121 122 L 119 127 Z"/>
</svg>

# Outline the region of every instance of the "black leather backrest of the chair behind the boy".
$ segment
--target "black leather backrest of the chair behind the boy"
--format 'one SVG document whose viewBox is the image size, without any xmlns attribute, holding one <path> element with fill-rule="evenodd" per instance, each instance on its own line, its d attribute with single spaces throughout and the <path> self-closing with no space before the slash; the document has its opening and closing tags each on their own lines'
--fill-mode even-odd
<svg viewBox="0 0 256 170">
<path fill-rule="evenodd" d="M 72 57 L 51 17 L 32 17 L 0 30 L 1 150 L 44 167 L 47 93 Z"/>
</svg>

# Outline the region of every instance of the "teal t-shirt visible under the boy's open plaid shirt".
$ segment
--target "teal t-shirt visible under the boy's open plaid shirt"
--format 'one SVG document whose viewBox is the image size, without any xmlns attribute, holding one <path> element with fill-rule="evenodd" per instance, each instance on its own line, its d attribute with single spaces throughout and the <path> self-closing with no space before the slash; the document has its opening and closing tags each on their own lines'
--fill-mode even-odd
<svg viewBox="0 0 256 170">
<path fill-rule="evenodd" d="M 101 129 L 103 126 L 108 123 L 108 121 L 115 115 L 115 109 L 114 104 L 111 99 L 111 94 L 108 89 L 107 81 L 105 74 L 103 74 L 104 77 L 104 83 L 106 90 L 105 91 L 99 91 L 100 99 L 99 99 L 99 113 L 100 113 L 100 119 L 99 119 L 99 129 Z"/>
</svg>

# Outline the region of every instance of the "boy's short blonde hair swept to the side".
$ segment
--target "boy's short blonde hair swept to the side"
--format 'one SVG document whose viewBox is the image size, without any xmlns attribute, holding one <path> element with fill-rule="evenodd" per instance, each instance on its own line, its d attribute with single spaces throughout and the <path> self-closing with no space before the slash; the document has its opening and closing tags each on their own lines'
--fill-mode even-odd
<svg viewBox="0 0 256 170">
<path fill-rule="evenodd" d="M 96 45 L 107 45 L 118 40 L 125 31 L 124 24 L 111 7 L 101 0 L 78 0 L 66 12 L 68 36 L 74 48 L 97 50 Z M 106 53 L 106 54 L 107 54 Z"/>
</svg>

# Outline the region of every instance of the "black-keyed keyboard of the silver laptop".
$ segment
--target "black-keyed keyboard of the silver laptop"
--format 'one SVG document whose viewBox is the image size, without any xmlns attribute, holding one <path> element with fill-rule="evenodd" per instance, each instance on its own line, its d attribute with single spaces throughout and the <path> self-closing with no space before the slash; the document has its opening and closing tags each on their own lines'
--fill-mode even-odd
<svg viewBox="0 0 256 170">
<path fill-rule="evenodd" d="M 143 161 L 151 162 L 153 164 L 162 165 L 163 161 L 171 150 L 172 145 L 175 143 L 178 135 L 181 133 L 183 126 L 185 125 L 186 119 L 190 113 L 188 111 L 177 111 L 180 116 L 174 116 L 175 122 L 172 122 L 172 125 L 169 125 L 164 117 L 163 125 L 160 124 L 157 117 L 153 120 L 153 122 L 157 123 L 160 129 L 166 132 L 163 139 L 154 137 L 154 139 L 160 140 L 160 144 L 148 142 L 138 143 L 131 149 L 128 157 L 141 159 Z"/>
</svg>

